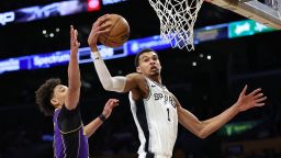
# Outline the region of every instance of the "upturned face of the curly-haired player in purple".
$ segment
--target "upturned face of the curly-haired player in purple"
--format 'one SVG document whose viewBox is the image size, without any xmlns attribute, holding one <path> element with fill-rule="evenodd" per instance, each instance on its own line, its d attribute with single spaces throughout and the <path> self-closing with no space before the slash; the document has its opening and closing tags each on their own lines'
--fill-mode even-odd
<svg viewBox="0 0 281 158">
<path fill-rule="evenodd" d="M 68 91 L 68 87 L 58 84 L 54 89 L 54 97 L 50 100 L 54 106 L 58 108 L 65 103 L 65 98 Z"/>
</svg>

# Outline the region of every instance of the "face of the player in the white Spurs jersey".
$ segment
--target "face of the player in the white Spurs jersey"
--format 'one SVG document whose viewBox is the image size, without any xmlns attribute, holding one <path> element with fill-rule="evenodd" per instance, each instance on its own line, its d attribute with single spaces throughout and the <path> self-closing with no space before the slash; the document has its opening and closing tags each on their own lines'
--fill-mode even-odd
<svg viewBox="0 0 281 158">
<path fill-rule="evenodd" d="M 161 65 L 156 53 L 143 53 L 138 58 L 137 71 L 145 76 L 158 76 L 161 71 Z"/>
</svg>

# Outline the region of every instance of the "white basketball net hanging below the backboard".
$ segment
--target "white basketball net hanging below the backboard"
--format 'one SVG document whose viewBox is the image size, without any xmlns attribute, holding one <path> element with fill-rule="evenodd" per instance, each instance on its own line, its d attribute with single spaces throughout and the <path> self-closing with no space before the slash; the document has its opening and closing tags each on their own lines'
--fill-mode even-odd
<svg viewBox="0 0 281 158">
<path fill-rule="evenodd" d="M 160 20 L 160 36 L 171 46 L 194 49 L 193 26 L 204 0 L 148 0 Z"/>
</svg>

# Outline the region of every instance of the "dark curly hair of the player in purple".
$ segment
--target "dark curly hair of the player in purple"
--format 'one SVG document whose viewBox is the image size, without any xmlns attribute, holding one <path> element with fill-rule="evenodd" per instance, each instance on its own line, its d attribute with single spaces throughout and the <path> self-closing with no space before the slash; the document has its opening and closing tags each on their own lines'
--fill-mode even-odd
<svg viewBox="0 0 281 158">
<path fill-rule="evenodd" d="M 55 108 L 50 103 L 50 99 L 54 95 L 54 89 L 60 84 L 61 80 L 58 78 L 50 78 L 46 80 L 36 91 L 35 99 L 41 112 L 46 116 L 53 115 Z"/>
</svg>

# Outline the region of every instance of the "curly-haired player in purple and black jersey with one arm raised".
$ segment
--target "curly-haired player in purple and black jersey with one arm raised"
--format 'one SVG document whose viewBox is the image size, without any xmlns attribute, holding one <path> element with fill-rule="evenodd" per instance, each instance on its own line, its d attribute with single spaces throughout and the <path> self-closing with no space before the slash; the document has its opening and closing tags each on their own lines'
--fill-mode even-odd
<svg viewBox="0 0 281 158">
<path fill-rule="evenodd" d="M 80 70 L 78 64 L 78 32 L 70 27 L 70 60 L 68 65 L 68 87 L 59 79 L 48 79 L 36 91 L 36 103 L 45 115 L 53 115 L 54 154 L 56 158 L 88 158 L 90 137 L 111 115 L 119 100 L 110 99 L 102 114 L 83 126 L 79 111 Z"/>
</svg>

